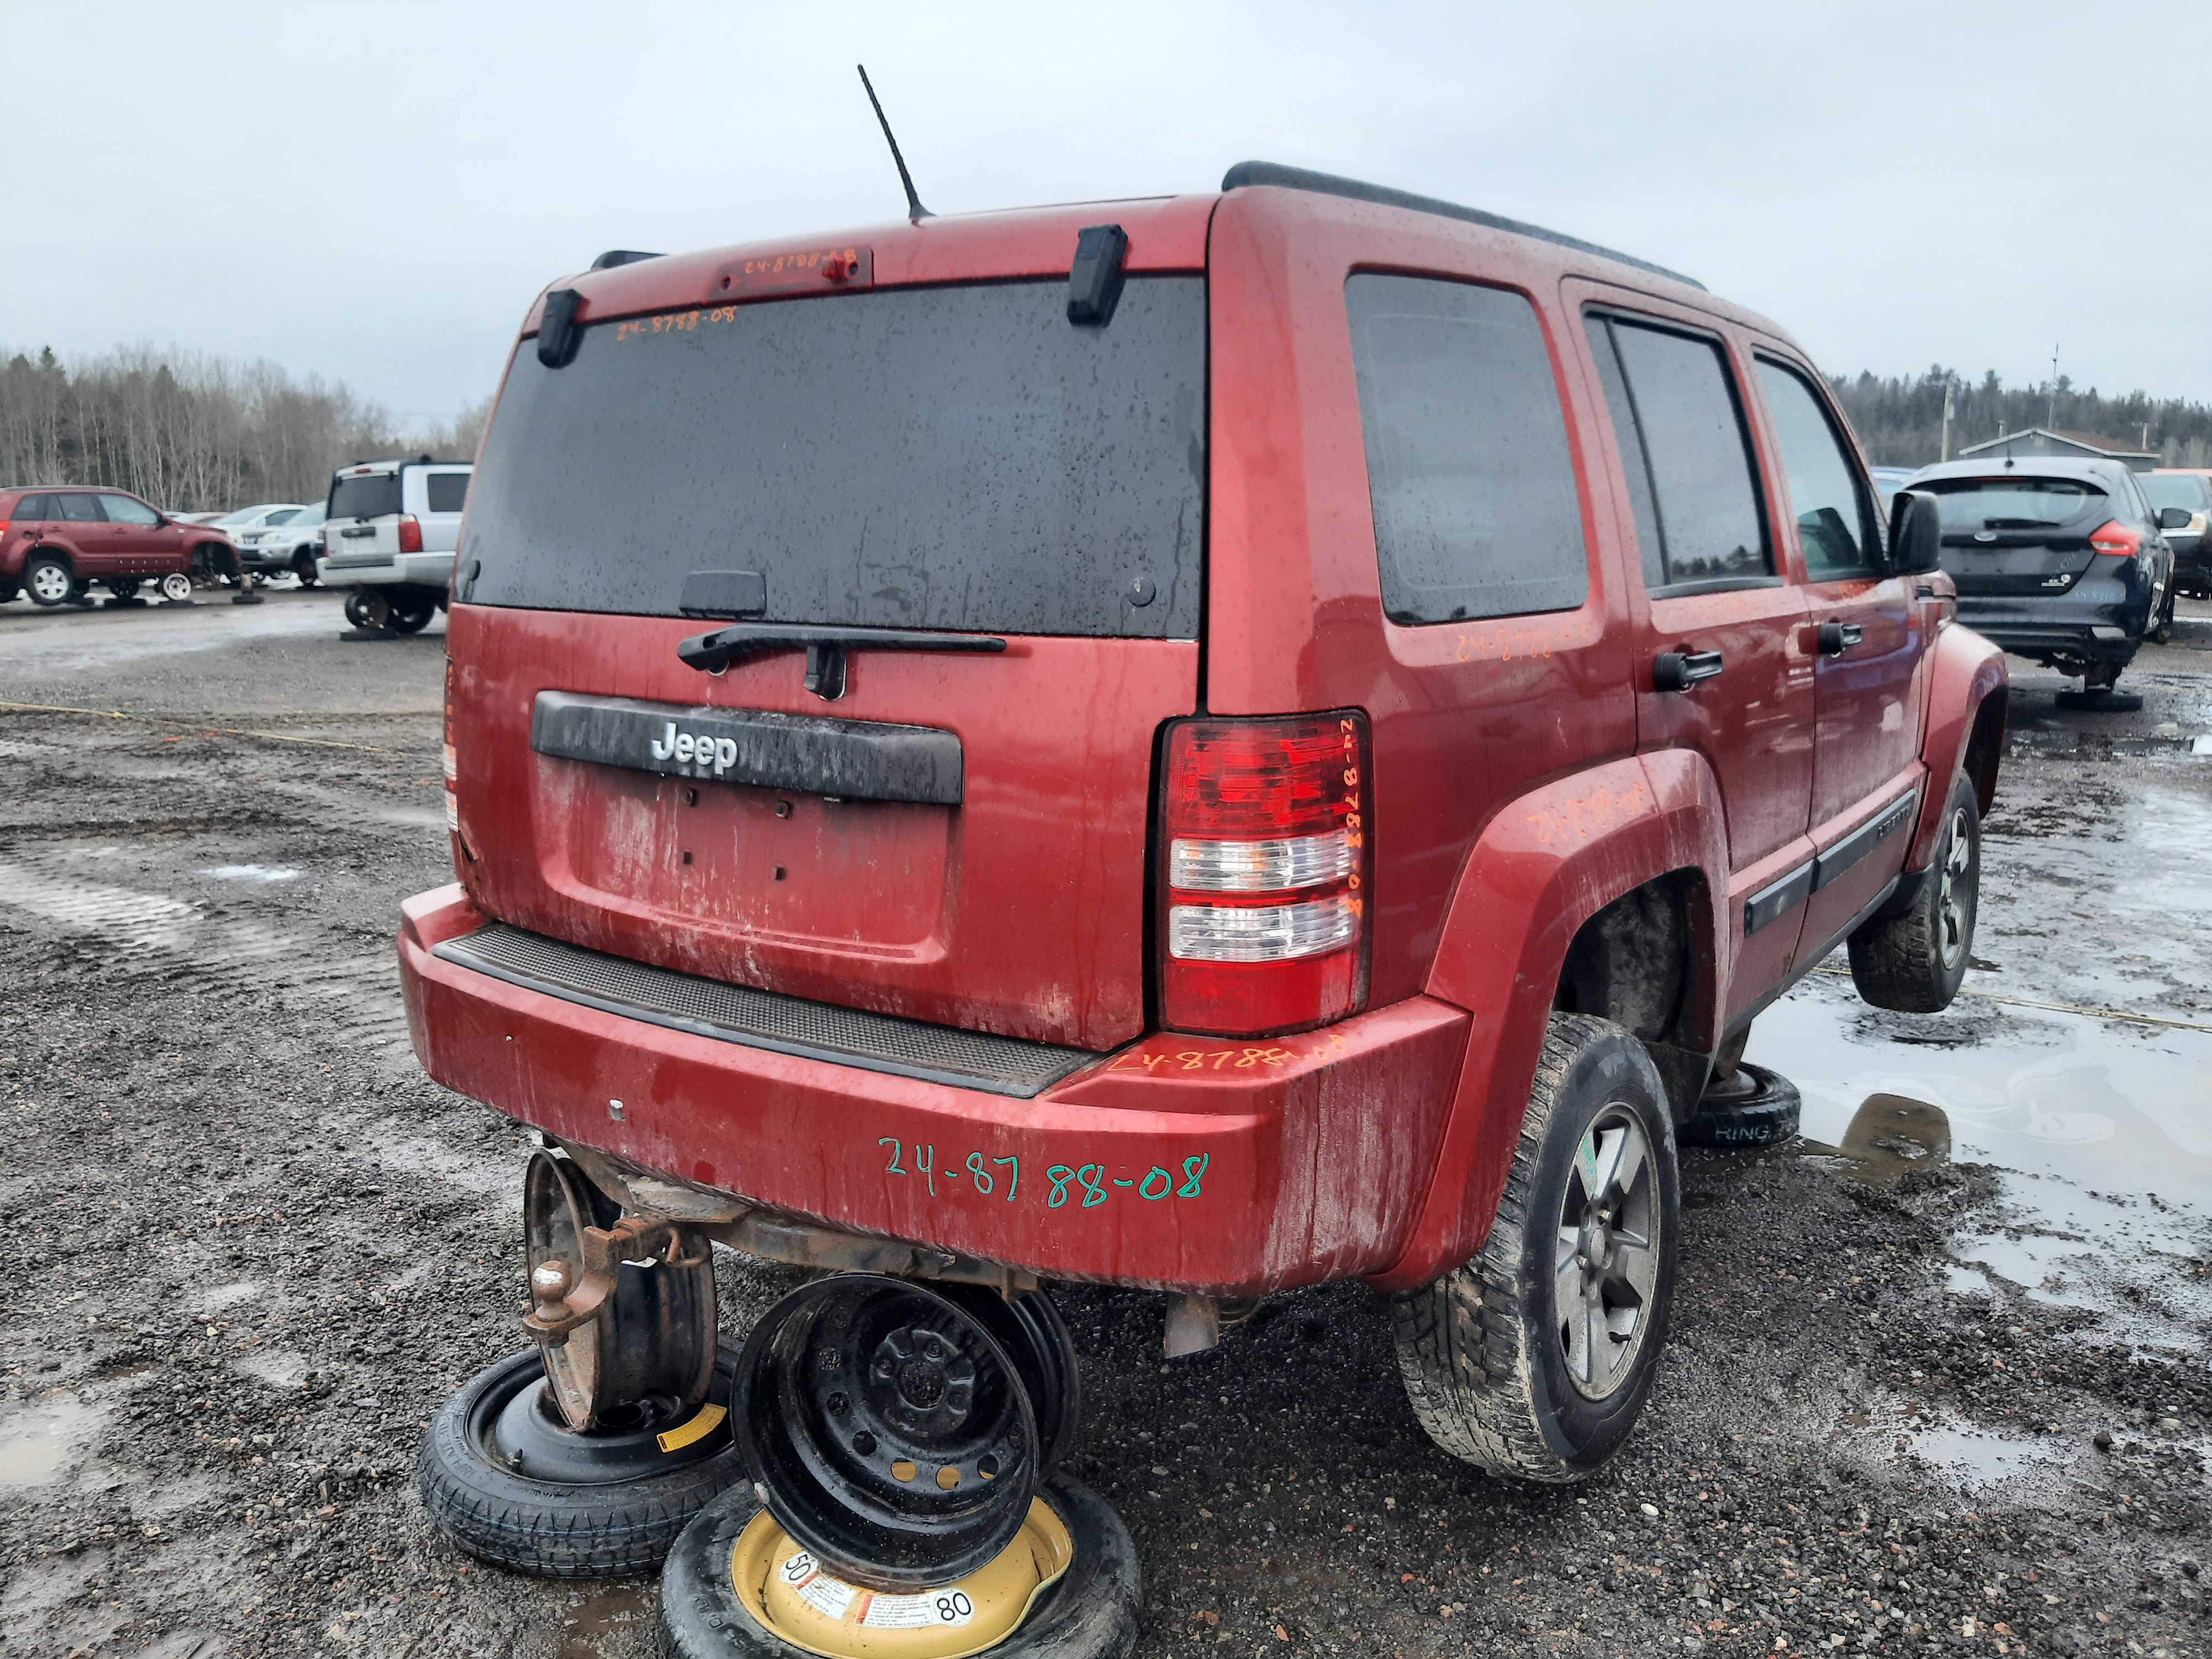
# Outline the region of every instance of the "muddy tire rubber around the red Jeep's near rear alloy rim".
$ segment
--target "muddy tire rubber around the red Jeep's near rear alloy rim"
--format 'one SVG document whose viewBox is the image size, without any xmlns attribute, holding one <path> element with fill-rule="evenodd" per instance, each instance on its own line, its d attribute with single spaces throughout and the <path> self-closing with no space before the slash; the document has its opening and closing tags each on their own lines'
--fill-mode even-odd
<svg viewBox="0 0 2212 1659">
<path fill-rule="evenodd" d="M 1453 1458 L 1495 1475 L 1575 1482 L 1604 1469 L 1644 1411 L 1674 1298 L 1681 1190 L 1666 1084 L 1610 1020 L 1555 1013 L 1498 1219 L 1460 1267 L 1391 1298 L 1398 1374 L 1413 1418 Z M 1568 1168 L 1606 1106 L 1644 1128 L 1659 1210 L 1659 1274 L 1630 1374 L 1604 1400 L 1575 1391 L 1559 1358 L 1553 1252 Z"/>
</svg>

